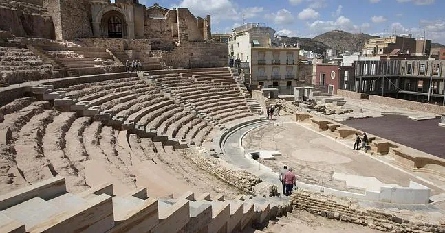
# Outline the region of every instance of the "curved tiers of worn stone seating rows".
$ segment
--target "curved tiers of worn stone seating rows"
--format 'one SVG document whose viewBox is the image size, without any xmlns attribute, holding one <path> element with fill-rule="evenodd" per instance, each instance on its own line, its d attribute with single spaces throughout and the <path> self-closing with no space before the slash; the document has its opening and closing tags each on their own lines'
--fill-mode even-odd
<svg viewBox="0 0 445 233">
<path fill-rule="evenodd" d="M 99 161 L 116 182 L 135 186 L 128 169 L 133 159 L 124 145 L 116 143 L 119 137 L 138 151 L 137 160 L 148 160 L 167 149 L 173 153 L 169 141 L 201 144 L 213 130 L 208 116 L 200 115 L 204 112 L 222 123 L 252 116 L 231 86 L 171 75 L 182 85 L 175 91 L 193 104 L 191 110 L 134 76 L 124 73 L 121 78 L 57 90 L 35 86 L 30 91 L 46 100 L 26 97 L 1 106 L 0 187 L 19 188 L 59 174 L 66 177 L 69 190 L 82 191 L 87 188 L 87 160 Z M 133 136 L 127 140 L 120 130 Z"/>
</svg>

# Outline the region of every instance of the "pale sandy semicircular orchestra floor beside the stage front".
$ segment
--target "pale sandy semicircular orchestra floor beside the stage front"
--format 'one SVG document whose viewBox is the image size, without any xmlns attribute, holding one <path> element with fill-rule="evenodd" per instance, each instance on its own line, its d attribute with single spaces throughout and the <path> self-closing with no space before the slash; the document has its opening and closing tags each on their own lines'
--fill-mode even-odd
<svg viewBox="0 0 445 233">
<path fill-rule="evenodd" d="M 295 123 L 283 116 L 275 121 L 277 125 L 266 125 L 248 133 L 243 138 L 246 149 L 278 150 L 282 156 L 264 163 L 275 171 L 280 171 L 284 164 L 293 167 L 303 182 L 323 184 L 333 188 L 346 189 L 344 182 L 332 181 L 331 172 L 348 175 L 376 177 L 380 182 L 408 186 L 410 180 L 431 188 L 431 194 L 442 193 L 436 186 L 426 184 L 415 178 L 415 175 L 393 169 L 387 164 L 352 150 L 342 143 L 323 134 L 310 130 L 302 123 Z M 417 175 L 417 173 L 416 173 Z M 362 191 L 357 191 L 362 192 Z"/>
</svg>

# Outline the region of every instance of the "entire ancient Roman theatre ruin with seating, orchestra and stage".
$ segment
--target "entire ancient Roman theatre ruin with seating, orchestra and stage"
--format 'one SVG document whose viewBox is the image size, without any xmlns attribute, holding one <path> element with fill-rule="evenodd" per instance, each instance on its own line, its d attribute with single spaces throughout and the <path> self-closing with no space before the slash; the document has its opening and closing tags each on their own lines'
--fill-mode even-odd
<svg viewBox="0 0 445 233">
<path fill-rule="evenodd" d="M 270 98 L 186 8 L 0 12 L 0 232 L 445 232 L 445 119 L 426 103 Z"/>
</svg>

